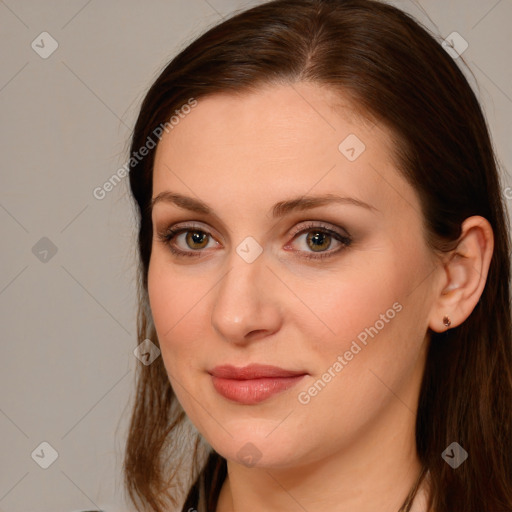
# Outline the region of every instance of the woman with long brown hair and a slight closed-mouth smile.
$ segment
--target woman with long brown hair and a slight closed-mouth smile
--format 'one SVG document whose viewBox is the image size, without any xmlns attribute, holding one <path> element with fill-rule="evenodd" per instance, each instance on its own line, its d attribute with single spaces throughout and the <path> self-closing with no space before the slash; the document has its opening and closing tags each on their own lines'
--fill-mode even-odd
<svg viewBox="0 0 512 512">
<path fill-rule="evenodd" d="M 505 208 L 425 29 L 372 0 L 242 12 L 162 72 L 131 149 L 162 356 L 127 442 L 140 510 L 512 510 Z"/>
</svg>

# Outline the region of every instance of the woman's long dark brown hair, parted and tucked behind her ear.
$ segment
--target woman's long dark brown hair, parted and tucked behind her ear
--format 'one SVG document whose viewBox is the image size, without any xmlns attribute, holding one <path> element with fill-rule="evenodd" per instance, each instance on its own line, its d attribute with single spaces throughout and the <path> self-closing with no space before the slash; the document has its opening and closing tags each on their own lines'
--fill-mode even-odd
<svg viewBox="0 0 512 512">
<path fill-rule="evenodd" d="M 492 226 L 494 253 L 479 304 L 460 326 L 430 332 L 416 444 L 429 474 L 429 508 L 510 512 L 508 218 L 481 107 L 435 36 L 409 15 L 375 0 L 264 3 L 211 28 L 167 65 L 142 103 L 131 151 L 144 146 L 153 130 L 190 98 L 200 103 L 216 93 L 299 81 L 349 95 L 391 131 L 399 171 L 418 193 L 433 250 L 448 250 L 469 216 L 485 217 Z M 134 163 L 129 179 L 140 220 L 138 343 L 149 338 L 158 345 L 147 292 L 154 152 Z M 139 510 L 163 512 L 169 504 L 177 505 L 177 496 L 188 493 L 186 510 L 194 503 L 201 475 L 207 508 L 214 510 L 226 461 L 213 452 L 205 465 L 198 433 L 180 430 L 187 418 L 161 358 L 139 365 L 137 386 L 124 461 L 131 499 Z M 188 462 L 180 455 L 185 440 L 191 443 Z M 469 453 L 457 469 L 441 457 L 453 441 Z M 164 453 L 170 454 L 169 460 Z M 186 485 L 179 478 L 183 474 L 189 475 Z"/>
</svg>

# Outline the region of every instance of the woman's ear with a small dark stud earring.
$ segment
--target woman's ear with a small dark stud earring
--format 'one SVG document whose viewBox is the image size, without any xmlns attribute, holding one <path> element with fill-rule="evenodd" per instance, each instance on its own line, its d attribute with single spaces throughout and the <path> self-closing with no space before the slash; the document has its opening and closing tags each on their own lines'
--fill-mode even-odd
<svg viewBox="0 0 512 512">
<path fill-rule="evenodd" d="M 462 223 L 457 247 L 444 258 L 443 276 L 433 302 L 429 327 L 443 332 L 457 327 L 471 314 L 485 287 L 494 250 L 494 234 L 489 221 L 480 216 Z M 444 319 L 449 319 L 449 325 Z"/>
</svg>

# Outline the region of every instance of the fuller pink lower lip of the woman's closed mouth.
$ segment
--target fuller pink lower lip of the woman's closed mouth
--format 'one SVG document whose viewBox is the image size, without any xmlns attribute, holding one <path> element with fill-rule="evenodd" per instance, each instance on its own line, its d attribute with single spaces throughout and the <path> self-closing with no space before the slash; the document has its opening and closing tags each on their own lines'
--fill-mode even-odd
<svg viewBox="0 0 512 512">
<path fill-rule="evenodd" d="M 261 379 L 234 380 L 214 377 L 213 386 L 217 393 L 228 400 L 244 405 L 254 405 L 277 393 L 295 386 L 305 375 L 295 377 L 265 377 Z"/>
</svg>

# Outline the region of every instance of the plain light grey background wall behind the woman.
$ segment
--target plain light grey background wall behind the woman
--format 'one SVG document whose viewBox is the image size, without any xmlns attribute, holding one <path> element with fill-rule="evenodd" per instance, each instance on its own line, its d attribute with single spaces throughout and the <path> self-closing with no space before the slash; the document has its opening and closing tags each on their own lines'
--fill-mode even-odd
<svg viewBox="0 0 512 512">
<path fill-rule="evenodd" d="M 135 224 L 127 179 L 101 201 L 92 191 L 126 162 L 137 109 L 167 61 L 256 3 L 0 0 L 2 512 L 130 510 L 121 462 L 141 364 Z M 512 1 L 394 4 L 469 43 L 512 197 Z M 44 31 L 58 42 L 46 59 L 31 47 Z M 39 252 L 43 237 L 54 255 Z M 43 441 L 58 452 L 48 469 L 31 457 Z"/>
</svg>

